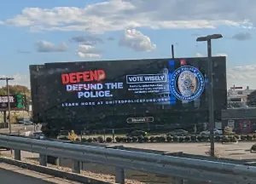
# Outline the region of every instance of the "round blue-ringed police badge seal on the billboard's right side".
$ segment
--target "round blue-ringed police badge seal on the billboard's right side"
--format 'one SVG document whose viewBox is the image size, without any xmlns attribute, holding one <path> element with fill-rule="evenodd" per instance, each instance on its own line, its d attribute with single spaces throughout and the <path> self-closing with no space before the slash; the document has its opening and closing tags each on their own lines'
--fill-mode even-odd
<svg viewBox="0 0 256 184">
<path fill-rule="evenodd" d="M 205 79 L 194 66 L 182 66 L 172 73 L 172 95 L 181 101 L 194 101 L 205 89 Z"/>
</svg>

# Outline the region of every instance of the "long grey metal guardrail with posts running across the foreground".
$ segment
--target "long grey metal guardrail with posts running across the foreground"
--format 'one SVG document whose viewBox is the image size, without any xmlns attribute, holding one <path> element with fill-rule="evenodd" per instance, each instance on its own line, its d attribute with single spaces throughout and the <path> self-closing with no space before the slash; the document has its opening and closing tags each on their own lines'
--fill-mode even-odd
<svg viewBox="0 0 256 184">
<path fill-rule="evenodd" d="M 135 152 L 112 147 L 93 147 L 56 141 L 42 141 L 16 136 L 0 135 L 0 147 L 15 150 L 20 160 L 20 150 L 38 152 L 41 165 L 47 166 L 47 155 L 73 159 L 73 172 L 80 172 L 80 162 L 113 165 L 116 182 L 125 183 L 125 170 L 169 175 L 176 184 L 183 180 L 214 184 L 256 183 L 256 167 L 197 158 L 182 158 L 150 152 Z M 172 183 L 172 182 L 169 182 Z"/>
</svg>

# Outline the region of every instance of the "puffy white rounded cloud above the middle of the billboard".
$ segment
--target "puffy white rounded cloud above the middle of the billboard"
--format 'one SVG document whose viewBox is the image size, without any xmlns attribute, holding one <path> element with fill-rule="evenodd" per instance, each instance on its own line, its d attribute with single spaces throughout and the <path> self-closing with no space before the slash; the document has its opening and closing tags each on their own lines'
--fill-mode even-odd
<svg viewBox="0 0 256 184">
<path fill-rule="evenodd" d="M 150 52 L 156 49 L 156 45 L 151 43 L 148 36 L 143 35 L 142 32 L 135 29 L 126 30 L 125 34 L 119 40 L 119 45 L 136 51 Z"/>
</svg>

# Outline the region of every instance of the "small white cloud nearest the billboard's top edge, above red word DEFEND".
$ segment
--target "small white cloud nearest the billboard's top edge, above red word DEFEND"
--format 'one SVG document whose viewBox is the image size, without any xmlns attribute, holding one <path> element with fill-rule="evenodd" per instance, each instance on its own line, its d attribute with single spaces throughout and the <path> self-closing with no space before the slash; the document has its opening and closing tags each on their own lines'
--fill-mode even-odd
<svg viewBox="0 0 256 184">
<path fill-rule="evenodd" d="M 80 58 L 101 58 L 100 50 L 96 49 L 94 46 L 80 44 L 77 49 L 77 54 Z"/>
</svg>

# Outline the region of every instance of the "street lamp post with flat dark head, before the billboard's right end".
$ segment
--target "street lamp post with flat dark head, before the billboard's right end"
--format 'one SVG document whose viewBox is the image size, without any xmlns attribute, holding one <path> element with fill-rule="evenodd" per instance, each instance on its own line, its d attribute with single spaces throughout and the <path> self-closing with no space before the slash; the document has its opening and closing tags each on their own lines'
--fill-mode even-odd
<svg viewBox="0 0 256 184">
<path fill-rule="evenodd" d="M 209 102 L 209 124 L 210 124 L 210 141 L 211 156 L 215 156 L 214 151 L 214 103 L 213 103 L 213 81 L 212 81 L 212 39 L 223 37 L 221 34 L 212 34 L 207 37 L 197 37 L 196 42 L 207 42 L 208 55 L 208 102 Z"/>
</svg>

